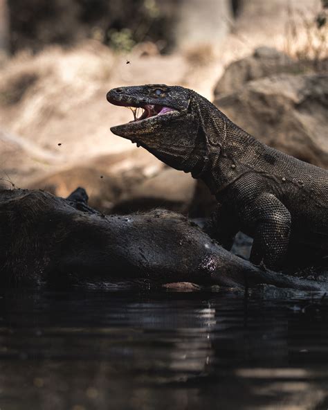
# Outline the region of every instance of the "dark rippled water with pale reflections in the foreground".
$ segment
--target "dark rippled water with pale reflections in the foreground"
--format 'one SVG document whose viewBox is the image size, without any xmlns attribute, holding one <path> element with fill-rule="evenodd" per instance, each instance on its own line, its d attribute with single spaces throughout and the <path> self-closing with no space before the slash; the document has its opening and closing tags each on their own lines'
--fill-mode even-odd
<svg viewBox="0 0 328 410">
<path fill-rule="evenodd" d="M 327 310 L 271 296 L 2 294 L 0 409 L 327 409 Z"/>
</svg>

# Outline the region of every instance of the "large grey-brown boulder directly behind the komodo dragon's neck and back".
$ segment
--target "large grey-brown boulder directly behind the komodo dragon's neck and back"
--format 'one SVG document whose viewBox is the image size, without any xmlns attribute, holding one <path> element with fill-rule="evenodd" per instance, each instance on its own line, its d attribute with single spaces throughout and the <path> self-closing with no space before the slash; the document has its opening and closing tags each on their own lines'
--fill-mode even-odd
<svg viewBox="0 0 328 410">
<path fill-rule="evenodd" d="M 260 78 L 215 105 L 263 143 L 328 168 L 327 74 Z"/>
</svg>

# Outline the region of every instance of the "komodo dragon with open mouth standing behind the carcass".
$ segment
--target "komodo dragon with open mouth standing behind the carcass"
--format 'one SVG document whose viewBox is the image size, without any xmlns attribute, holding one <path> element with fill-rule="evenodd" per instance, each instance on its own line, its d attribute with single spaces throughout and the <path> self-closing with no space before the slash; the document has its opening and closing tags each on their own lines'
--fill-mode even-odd
<svg viewBox="0 0 328 410">
<path fill-rule="evenodd" d="M 250 260 L 271 269 L 328 264 L 328 172 L 268 147 L 195 91 L 164 84 L 120 87 L 114 105 L 143 114 L 111 132 L 202 179 L 219 202 L 215 238 L 242 231 Z"/>
</svg>

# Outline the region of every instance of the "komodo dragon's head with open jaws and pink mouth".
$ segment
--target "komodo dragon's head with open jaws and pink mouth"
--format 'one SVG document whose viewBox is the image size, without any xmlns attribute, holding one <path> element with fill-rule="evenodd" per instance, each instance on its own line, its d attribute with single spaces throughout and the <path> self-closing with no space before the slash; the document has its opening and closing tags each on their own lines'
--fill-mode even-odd
<svg viewBox="0 0 328 410">
<path fill-rule="evenodd" d="M 164 84 L 111 89 L 107 100 L 135 107 L 134 120 L 111 127 L 113 134 L 141 145 L 173 168 L 195 175 L 201 172 L 207 139 L 200 106 L 210 104 L 208 100 L 190 89 Z M 140 116 L 139 108 L 143 111 Z"/>
</svg>

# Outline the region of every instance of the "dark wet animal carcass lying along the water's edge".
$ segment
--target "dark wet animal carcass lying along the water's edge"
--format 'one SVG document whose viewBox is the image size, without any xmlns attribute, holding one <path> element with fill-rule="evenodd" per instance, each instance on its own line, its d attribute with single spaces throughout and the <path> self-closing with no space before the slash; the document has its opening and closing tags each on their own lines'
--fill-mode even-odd
<svg viewBox="0 0 328 410">
<path fill-rule="evenodd" d="M 106 287 L 163 285 L 328 289 L 255 267 L 222 249 L 185 217 L 165 210 L 105 216 L 89 208 L 84 190 L 69 199 L 36 190 L 2 190 L 1 286 Z M 318 278 L 317 278 L 318 279 Z"/>
</svg>

